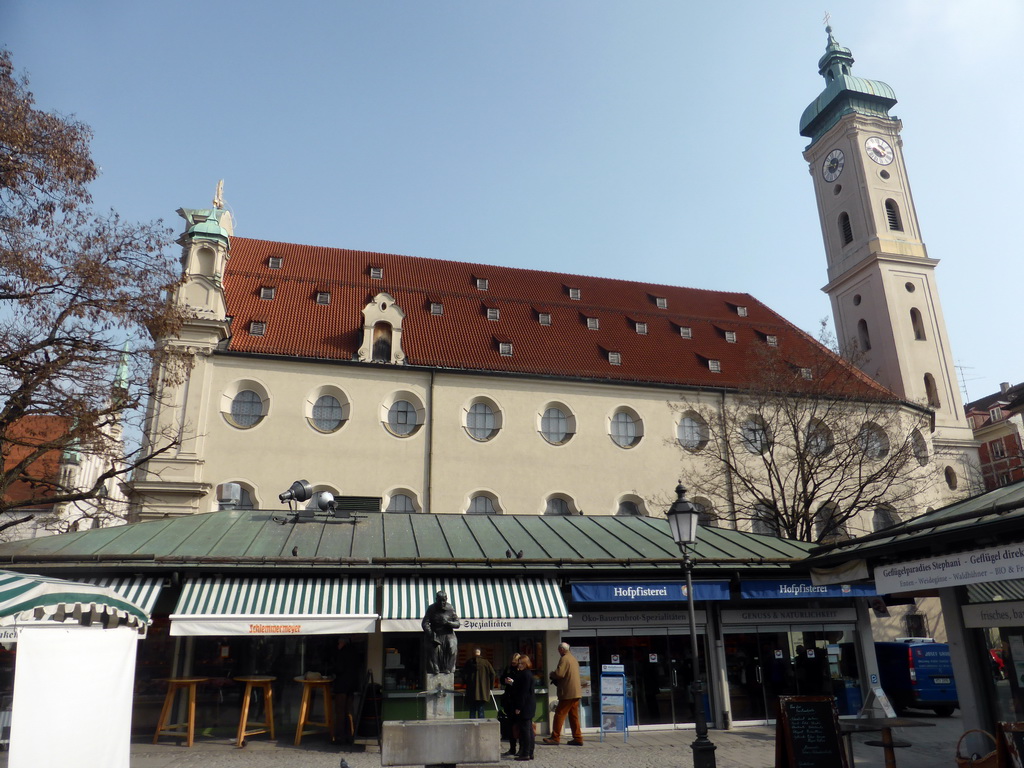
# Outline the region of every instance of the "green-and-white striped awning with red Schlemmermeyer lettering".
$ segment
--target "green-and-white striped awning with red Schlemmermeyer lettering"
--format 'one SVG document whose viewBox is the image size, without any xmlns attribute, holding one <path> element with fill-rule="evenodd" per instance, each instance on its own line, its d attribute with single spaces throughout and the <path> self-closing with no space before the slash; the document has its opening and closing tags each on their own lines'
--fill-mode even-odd
<svg viewBox="0 0 1024 768">
<path fill-rule="evenodd" d="M 369 578 L 191 577 L 172 635 L 339 635 L 377 624 Z"/>
</svg>

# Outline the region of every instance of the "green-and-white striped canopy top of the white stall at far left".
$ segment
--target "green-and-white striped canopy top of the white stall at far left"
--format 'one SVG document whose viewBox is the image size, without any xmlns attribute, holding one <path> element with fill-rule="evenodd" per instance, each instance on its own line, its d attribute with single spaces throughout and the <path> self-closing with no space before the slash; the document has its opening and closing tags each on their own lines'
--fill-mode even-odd
<svg viewBox="0 0 1024 768">
<path fill-rule="evenodd" d="M 39 622 L 144 628 L 150 613 L 106 587 L 0 570 L 0 625 Z"/>
</svg>

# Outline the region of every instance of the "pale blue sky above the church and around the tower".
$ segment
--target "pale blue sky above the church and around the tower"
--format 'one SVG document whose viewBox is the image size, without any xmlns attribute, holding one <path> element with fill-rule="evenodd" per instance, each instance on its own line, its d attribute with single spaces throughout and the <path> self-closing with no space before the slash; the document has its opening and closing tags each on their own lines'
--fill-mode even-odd
<svg viewBox="0 0 1024 768">
<path fill-rule="evenodd" d="M 1024 381 L 1018 0 L 843 0 L 896 91 L 970 399 Z M 798 133 L 825 7 L 779 0 L 0 2 L 38 103 L 95 132 L 101 208 L 238 234 L 745 291 L 815 334 Z"/>
</svg>

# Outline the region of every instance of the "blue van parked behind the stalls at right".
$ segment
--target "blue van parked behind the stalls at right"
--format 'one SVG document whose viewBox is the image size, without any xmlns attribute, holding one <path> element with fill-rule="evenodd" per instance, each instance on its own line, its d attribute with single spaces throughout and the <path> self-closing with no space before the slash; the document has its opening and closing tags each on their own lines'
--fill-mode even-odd
<svg viewBox="0 0 1024 768">
<path fill-rule="evenodd" d="M 945 643 L 911 637 L 874 643 L 874 654 L 882 690 L 897 714 L 907 709 L 932 710 L 939 717 L 949 717 L 959 708 L 949 646 Z"/>
</svg>

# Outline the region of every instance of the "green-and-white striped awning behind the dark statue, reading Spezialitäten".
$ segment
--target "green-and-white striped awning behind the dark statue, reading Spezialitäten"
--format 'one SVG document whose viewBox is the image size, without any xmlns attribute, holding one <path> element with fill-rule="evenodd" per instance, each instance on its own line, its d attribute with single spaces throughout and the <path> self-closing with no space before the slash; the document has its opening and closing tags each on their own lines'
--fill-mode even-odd
<svg viewBox="0 0 1024 768">
<path fill-rule="evenodd" d="M 564 630 L 568 610 L 558 584 L 539 577 L 449 579 L 407 577 L 384 583 L 381 630 L 422 632 L 420 623 L 437 592 L 462 622 L 462 630 Z"/>
</svg>

